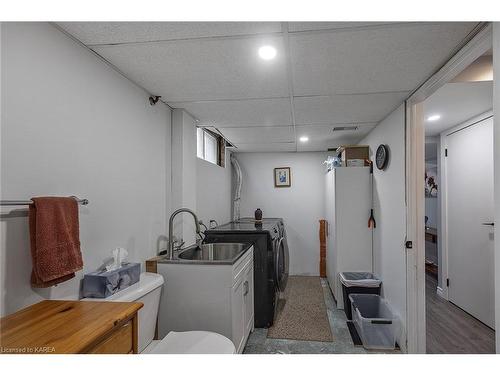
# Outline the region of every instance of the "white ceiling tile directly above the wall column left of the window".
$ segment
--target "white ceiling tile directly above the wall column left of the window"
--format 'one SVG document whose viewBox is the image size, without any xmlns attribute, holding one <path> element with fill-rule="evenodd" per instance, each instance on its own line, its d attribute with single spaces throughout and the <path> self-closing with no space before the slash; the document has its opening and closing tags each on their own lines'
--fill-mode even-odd
<svg viewBox="0 0 500 375">
<path fill-rule="evenodd" d="M 255 99 L 207 102 L 169 103 L 184 108 L 200 120 L 201 125 L 217 128 L 249 125 L 291 125 L 290 99 Z"/>
</svg>

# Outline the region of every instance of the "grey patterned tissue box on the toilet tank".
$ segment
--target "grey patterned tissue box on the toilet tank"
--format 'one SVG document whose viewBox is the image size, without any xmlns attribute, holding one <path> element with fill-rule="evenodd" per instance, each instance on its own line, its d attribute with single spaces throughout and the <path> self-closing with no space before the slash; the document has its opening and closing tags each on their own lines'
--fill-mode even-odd
<svg viewBox="0 0 500 375">
<path fill-rule="evenodd" d="M 113 271 L 96 271 L 83 276 L 84 298 L 106 298 L 139 281 L 140 263 L 122 263 Z"/>
</svg>

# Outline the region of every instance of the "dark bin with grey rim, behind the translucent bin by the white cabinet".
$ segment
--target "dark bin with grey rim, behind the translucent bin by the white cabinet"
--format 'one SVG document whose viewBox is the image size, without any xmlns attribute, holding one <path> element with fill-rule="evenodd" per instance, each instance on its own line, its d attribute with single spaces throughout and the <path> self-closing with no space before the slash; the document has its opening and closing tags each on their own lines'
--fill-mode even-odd
<svg viewBox="0 0 500 375">
<path fill-rule="evenodd" d="M 342 294 L 344 297 L 344 312 L 347 320 L 352 320 L 350 294 L 378 294 L 382 281 L 371 272 L 340 272 Z"/>
</svg>

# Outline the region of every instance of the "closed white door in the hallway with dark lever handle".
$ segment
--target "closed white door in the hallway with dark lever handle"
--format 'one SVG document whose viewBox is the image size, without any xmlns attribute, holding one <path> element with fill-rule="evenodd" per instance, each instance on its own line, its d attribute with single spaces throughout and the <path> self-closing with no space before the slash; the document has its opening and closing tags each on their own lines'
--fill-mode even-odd
<svg viewBox="0 0 500 375">
<path fill-rule="evenodd" d="M 493 118 L 447 136 L 448 298 L 494 327 Z"/>
</svg>

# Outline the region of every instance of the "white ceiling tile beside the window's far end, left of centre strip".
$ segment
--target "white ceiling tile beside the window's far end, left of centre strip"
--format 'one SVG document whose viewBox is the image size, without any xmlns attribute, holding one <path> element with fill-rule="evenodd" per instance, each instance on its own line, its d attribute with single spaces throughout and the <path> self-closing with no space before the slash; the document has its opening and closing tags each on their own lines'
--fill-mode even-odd
<svg viewBox="0 0 500 375">
<path fill-rule="evenodd" d="M 224 136 L 237 146 L 248 143 L 294 142 L 293 126 L 223 128 Z"/>
</svg>

